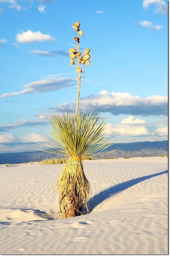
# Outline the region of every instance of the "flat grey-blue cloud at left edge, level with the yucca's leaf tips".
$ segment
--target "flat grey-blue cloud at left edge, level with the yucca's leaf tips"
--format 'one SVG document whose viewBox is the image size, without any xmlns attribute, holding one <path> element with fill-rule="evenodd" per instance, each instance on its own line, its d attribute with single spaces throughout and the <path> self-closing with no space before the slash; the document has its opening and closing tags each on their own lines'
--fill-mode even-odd
<svg viewBox="0 0 170 256">
<path fill-rule="evenodd" d="M 46 125 L 45 121 L 34 121 L 34 120 L 17 120 L 15 124 L 2 124 L 0 125 L 0 132 L 9 131 L 11 129 L 15 129 L 22 126 L 37 126 L 37 125 Z"/>
</svg>

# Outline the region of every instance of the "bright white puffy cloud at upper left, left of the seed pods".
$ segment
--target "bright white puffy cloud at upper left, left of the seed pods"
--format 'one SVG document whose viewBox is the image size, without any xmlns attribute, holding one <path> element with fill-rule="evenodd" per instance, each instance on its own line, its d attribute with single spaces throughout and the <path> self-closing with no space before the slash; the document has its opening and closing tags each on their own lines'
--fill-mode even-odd
<svg viewBox="0 0 170 256">
<path fill-rule="evenodd" d="M 42 34 L 41 31 L 32 32 L 27 30 L 21 34 L 16 35 L 16 40 L 18 43 L 33 43 L 33 42 L 42 42 L 42 41 L 55 41 L 55 38 L 50 35 Z"/>
</svg>

